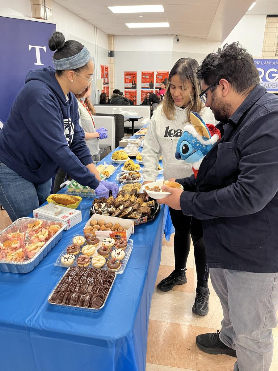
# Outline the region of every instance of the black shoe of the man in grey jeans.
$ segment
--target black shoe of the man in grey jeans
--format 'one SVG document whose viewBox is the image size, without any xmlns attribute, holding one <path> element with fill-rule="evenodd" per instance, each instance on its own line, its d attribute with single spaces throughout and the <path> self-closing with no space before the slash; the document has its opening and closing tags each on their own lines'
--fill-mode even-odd
<svg viewBox="0 0 278 371">
<path fill-rule="evenodd" d="M 196 337 L 196 344 L 199 349 L 209 354 L 227 354 L 236 358 L 236 351 L 227 347 L 219 339 L 220 332 L 210 332 L 209 334 L 202 334 Z"/>
</svg>

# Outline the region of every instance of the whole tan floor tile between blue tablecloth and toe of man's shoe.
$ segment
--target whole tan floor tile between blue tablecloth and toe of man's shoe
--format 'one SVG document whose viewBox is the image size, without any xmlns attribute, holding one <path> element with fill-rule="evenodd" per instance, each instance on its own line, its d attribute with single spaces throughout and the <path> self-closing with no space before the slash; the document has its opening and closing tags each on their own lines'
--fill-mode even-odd
<svg viewBox="0 0 278 371">
<path fill-rule="evenodd" d="M 194 326 L 150 320 L 147 363 L 196 370 Z"/>
</svg>

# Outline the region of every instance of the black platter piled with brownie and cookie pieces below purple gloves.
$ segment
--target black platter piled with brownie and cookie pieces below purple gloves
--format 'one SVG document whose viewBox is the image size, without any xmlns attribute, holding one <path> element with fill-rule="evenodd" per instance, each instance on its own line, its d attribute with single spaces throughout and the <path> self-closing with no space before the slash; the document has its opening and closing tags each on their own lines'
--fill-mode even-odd
<svg viewBox="0 0 278 371">
<path fill-rule="evenodd" d="M 147 193 L 138 193 L 134 188 L 130 193 L 121 190 L 116 198 L 95 198 L 90 215 L 100 214 L 133 220 L 135 225 L 152 221 L 160 211 L 160 204 Z"/>
</svg>

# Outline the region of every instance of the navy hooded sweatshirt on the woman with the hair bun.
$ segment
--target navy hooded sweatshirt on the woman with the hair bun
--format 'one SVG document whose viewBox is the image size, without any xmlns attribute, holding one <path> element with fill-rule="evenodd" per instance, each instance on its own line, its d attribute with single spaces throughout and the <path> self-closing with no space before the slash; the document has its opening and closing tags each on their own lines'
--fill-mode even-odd
<svg viewBox="0 0 278 371">
<path fill-rule="evenodd" d="M 0 161 L 35 184 L 46 183 L 59 166 L 95 189 L 99 181 L 86 168 L 93 161 L 79 125 L 78 104 L 72 93 L 67 98 L 55 69 L 29 71 L 0 131 Z"/>
</svg>

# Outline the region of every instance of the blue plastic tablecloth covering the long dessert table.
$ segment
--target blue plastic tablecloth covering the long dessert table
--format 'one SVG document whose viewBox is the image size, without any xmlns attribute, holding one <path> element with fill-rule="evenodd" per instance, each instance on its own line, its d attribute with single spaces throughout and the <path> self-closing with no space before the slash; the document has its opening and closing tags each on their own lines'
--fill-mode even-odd
<svg viewBox="0 0 278 371">
<path fill-rule="evenodd" d="M 102 311 L 59 308 L 47 301 L 65 272 L 54 262 L 72 236 L 83 233 L 91 205 L 91 198 L 83 198 L 83 221 L 64 231 L 32 272 L 0 272 L 1 370 L 145 370 L 150 302 L 167 224 L 163 206 L 155 220 L 135 227 L 128 264 Z"/>
</svg>

